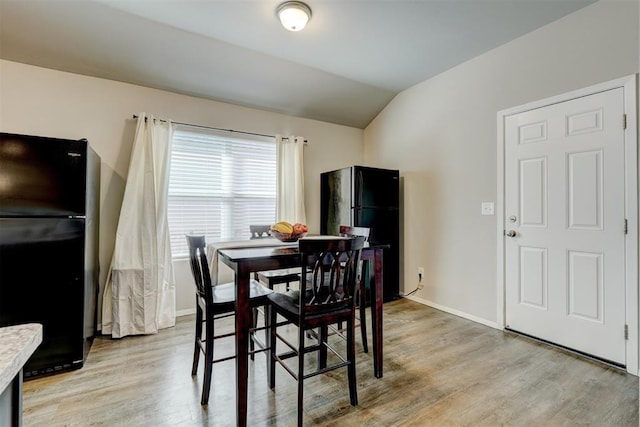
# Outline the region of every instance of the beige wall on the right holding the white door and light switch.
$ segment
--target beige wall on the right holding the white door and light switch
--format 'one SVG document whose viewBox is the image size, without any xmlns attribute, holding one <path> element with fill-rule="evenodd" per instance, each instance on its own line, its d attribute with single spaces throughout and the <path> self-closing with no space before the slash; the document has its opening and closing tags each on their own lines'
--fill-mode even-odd
<svg viewBox="0 0 640 427">
<path fill-rule="evenodd" d="M 635 74 L 638 1 L 603 0 L 399 94 L 365 129 L 366 164 L 398 168 L 405 291 L 497 320 L 498 111 Z"/>
</svg>

